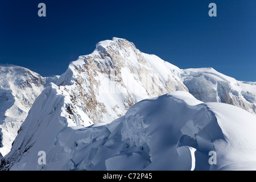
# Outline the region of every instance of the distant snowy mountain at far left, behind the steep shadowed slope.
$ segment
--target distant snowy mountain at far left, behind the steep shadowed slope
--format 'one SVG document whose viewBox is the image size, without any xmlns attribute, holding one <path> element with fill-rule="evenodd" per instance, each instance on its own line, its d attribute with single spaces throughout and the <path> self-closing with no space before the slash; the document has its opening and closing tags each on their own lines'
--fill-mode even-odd
<svg viewBox="0 0 256 182">
<path fill-rule="evenodd" d="M 36 97 L 56 77 L 42 77 L 27 68 L 15 65 L 0 67 L 0 153 L 11 150 L 20 125 Z"/>
</svg>

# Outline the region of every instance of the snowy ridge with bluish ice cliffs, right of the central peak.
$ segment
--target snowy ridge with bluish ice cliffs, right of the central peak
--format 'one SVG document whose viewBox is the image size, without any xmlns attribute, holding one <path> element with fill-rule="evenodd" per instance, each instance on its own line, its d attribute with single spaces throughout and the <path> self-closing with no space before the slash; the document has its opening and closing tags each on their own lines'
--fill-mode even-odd
<svg viewBox="0 0 256 182">
<path fill-rule="evenodd" d="M 231 104 L 256 114 L 255 82 L 237 81 L 213 68 L 184 69 L 181 76 L 198 100 Z"/>
</svg>

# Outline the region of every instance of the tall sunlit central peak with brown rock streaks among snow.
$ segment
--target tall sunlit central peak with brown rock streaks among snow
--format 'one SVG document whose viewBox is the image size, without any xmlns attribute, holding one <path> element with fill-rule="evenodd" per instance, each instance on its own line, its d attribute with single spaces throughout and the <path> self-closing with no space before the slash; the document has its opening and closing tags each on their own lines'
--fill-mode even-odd
<svg viewBox="0 0 256 182">
<path fill-rule="evenodd" d="M 92 54 L 73 61 L 56 84 L 68 92 L 71 102 L 67 105 L 79 123 L 87 126 L 112 122 L 145 98 L 188 91 L 179 71 L 157 56 L 142 53 L 133 43 L 113 38 L 98 43 Z M 81 117 L 81 113 L 88 117 Z"/>
</svg>

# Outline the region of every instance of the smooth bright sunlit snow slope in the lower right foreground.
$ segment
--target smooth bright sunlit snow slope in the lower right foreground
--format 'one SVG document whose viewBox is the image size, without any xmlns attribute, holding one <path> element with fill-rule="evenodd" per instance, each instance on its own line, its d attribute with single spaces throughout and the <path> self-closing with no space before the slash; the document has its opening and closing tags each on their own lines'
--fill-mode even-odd
<svg viewBox="0 0 256 182">
<path fill-rule="evenodd" d="M 207 103 L 218 119 L 226 142 L 216 142 L 218 166 L 223 170 L 256 170 L 256 118 L 239 107 Z"/>
</svg>

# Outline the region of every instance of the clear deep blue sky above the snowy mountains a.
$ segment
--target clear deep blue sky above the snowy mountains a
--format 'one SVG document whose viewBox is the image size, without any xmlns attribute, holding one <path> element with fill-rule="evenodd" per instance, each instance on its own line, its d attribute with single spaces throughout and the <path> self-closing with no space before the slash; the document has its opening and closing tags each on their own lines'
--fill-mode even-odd
<svg viewBox="0 0 256 182">
<path fill-rule="evenodd" d="M 38 16 L 40 2 L 46 17 Z M 211 2 L 217 17 L 208 15 Z M 0 64 L 61 75 L 114 36 L 179 68 L 256 81 L 255 0 L 0 0 Z"/>
</svg>

